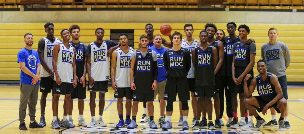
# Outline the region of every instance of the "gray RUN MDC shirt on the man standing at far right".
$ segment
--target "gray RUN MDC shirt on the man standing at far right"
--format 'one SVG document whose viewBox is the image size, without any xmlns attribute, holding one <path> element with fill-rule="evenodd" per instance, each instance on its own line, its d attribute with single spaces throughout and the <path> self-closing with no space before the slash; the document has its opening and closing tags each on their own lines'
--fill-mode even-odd
<svg viewBox="0 0 304 134">
<path fill-rule="evenodd" d="M 278 77 L 286 75 L 286 69 L 291 62 L 288 46 L 283 42 L 269 44 L 267 42 L 261 48 L 262 59 L 267 62 L 267 71 Z"/>
</svg>

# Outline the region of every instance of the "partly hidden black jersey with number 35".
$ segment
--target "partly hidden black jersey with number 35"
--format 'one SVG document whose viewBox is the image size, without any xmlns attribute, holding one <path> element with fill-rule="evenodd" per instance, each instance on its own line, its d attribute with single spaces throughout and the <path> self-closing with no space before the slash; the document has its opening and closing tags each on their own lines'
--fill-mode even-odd
<svg viewBox="0 0 304 134">
<path fill-rule="evenodd" d="M 239 36 L 237 36 L 235 39 L 231 40 L 230 36 L 226 36 L 224 38 L 225 44 L 226 44 L 226 70 L 227 70 L 227 76 L 232 76 L 231 66 L 233 62 L 233 54 L 232 54 L 232 47 L 233 44 L 240 41 Z"/>
</svg>

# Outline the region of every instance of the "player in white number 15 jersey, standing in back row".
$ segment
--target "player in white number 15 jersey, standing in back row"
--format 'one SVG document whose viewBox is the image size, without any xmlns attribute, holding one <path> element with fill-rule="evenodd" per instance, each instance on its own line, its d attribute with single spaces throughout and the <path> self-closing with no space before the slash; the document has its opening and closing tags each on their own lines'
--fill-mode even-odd
<svg viewBox="0 0 304 134">
<path fill-rule="evenodd" d="M 186 38 L 181 40 L 181 47 L 188 50 L 189 52 L 192 52 L 192 49 L 194 49 L 197 44 L 199 43 L 199 41 L 197 39 L 194 39 L 192 34 L 194 32 L 193 30 L 193 25 L 192 24 L 185 24 L 184 26 L 184 32 L 186 34 Z M 192 57 L 192 55 L 190 55 Z M 195 79 L 194 79 L 194 67 L 192 65 L 192 61 L 191 61 L 191 68 L 188 72 L 187 75 L 187 80 L 188 80 L 188 85 L 189 85 L 189 90 L 191 92 L 191 105 L 192 105 L 192 109 L 193 109 L 193 119 L 192 119 L 192 124 L 195 123 L 196 121 L 196 102 L 197 102 L 197 98 L 194 97 L 194 83 L 195 83 Z M 182 112 L 181 112 L 181 102 L 179 102 L 179 122 L 177 123 L 177 125 L 183 125 L 183 117 L 182 117 Z"/>
</svg>

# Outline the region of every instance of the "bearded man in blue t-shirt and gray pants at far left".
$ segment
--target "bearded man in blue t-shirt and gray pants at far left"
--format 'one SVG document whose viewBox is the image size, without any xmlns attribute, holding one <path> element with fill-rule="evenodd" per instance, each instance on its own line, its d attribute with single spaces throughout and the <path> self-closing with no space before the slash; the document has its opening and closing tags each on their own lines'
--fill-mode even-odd
<svg viewBox="0 0 304 134">
<path fill-rule="evenodd" d="M 27 130 L 25 126 L 26 107 L 29 103 L 29 127 L 43 128 L 35 120 L 36 104 L 38 99 L 40 60 L 38 52 L 32 49 L 33 35 L 24 35 L 25 47 L 18 52 L 17 62 L 20 64 L 20 105 L 19 105 L 19 129 Z"/>
</svg>

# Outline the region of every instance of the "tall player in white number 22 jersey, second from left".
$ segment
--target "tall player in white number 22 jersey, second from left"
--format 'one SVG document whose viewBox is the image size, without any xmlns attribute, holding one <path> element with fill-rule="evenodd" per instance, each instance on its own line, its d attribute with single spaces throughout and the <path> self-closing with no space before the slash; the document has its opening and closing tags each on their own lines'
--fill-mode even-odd
<svg viewBox="0 0 304 134">
<path fill-rule="evenodd" d="M 44 113 L 45 113 L 45 106 L 47 100 L 47 94 L 51 92 L 53 89 L 53 79 L 54 79 L 54 70 L 52 66 L 52 57 L 53 57 L 53 47 L 56 43 L 59 43 L 61 40 L 54 37 L 54 24 L 51 22 L 47 22 L 44 25 L 44 31 L 47 33 L 46 37 L 43 37 L 38 42 L 38 49 L 37 52 L 39 54 L 39 59 L 42 65 L 41 68 L 41 82 L 40 82 L 40 92 L 41 92 L 41 99 L 40 99 L 40 122 L 39 125 L 46 126 L 47 123 L 45 122 Z M 52 100 L 54 98 L 54 93 L 52 92 Z M 57 105 L 58 111 L 58 105 Z M 57 113 L 57 121 L 60 122 Z M 53 121 L 52 121 L 53 122 Z"/>
</svg>

